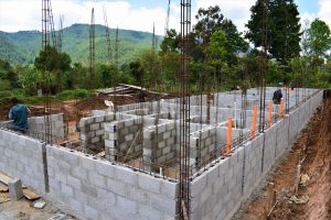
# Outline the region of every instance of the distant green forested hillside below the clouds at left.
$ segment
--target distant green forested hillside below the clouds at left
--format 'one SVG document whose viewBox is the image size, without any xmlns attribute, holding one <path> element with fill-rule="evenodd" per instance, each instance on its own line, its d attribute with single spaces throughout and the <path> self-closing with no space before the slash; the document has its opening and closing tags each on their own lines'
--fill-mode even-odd
<svg viewBox="0 0 331 220">
<path fill-rule="evenodd" d="M 106 62 L 105 26 L 96 25 L 96 62 Z M 114 53 L 115 29 L 110 29 L 111 51 Z M 57 32 L 56 32 L 57 34 Z M 152 34 L 139 31 L 119 30 L 119 62 L 132 61 L 141 51 L 151 47 Z M 89 25 L 73 24 L 63 30 L 63 52 L 70 54 L 73 63 L 88 63 Z M 158 36 L 158 44 L 161 37 Z M 7 33 L 0 31 L 0 58 L 15 64 L 30 64 L 41 50 L 41 32 L 20 31 Z"/>
</svg>

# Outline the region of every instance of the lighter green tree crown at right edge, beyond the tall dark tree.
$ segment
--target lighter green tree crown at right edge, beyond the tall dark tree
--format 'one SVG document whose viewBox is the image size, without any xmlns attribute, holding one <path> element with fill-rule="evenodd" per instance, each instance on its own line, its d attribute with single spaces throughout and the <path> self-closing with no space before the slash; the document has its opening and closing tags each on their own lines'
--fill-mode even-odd
<svg viewBox="0 0 331 220">
<path fill-rule="evenodd" d="M 316 19 L 307 30 L 308 53 L 316 57 L 327 58 L 331 50 L 331 32 L 324 21 Z"/>
</svg>

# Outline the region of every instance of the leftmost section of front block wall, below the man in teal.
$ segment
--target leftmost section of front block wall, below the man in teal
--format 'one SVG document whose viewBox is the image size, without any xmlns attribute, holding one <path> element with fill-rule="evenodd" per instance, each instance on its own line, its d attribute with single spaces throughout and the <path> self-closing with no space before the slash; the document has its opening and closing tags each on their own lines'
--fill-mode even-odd
<svg viewBox="0 0 331 220">
<path fill-rule="evenodd" d="M 45 191 L 45 151 L 41 141 L 0 130 L 0 172 L 22 179 L 39 193 Z"/>
</svg>

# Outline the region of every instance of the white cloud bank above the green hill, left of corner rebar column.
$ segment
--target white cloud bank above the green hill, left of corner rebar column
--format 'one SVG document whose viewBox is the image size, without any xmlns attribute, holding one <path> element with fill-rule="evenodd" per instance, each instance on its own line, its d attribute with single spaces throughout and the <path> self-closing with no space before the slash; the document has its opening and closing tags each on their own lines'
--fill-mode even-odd
<svg viewBox="0 0 331 220">
<path fill-rule="evenodd" d="M 167 3 L 152 9 L 132 7 L 129 1 L 78 1 L 53 0 L 52 9 L 55 29 L 60 14 L 64 15 L 64 26 L 73 23 L 90 23 L 90 10 L 95 8 L 95 23 L 104 24 L 103 6 L 106 7 L 110 28 L 152 32 L 156 23 L 157 34 L 164 33 Z M 170 28 L 179 26 L 179 7 L 173 6 L 170 15 Z M 40 0 L 0 0 L 0 30 L 15 32 L 20 30 L 41 30 Z"/>
</svg>

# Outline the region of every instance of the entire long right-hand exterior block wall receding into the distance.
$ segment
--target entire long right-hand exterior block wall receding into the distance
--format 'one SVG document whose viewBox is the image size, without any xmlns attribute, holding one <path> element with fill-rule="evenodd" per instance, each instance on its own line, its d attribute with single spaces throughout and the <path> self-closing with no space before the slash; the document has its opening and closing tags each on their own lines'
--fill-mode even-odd
<svg viewBox="0 0 331 220">
<path fill-rule="evenodd" d="M 276 161 L 291 147 L 321 101 L 319 91 L 232 156 L 211 163 L 209 170 L 191 183 L 191 219 L 231 219 Z"/>
</svg>

